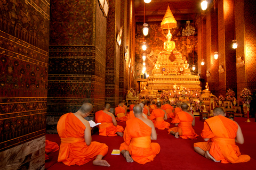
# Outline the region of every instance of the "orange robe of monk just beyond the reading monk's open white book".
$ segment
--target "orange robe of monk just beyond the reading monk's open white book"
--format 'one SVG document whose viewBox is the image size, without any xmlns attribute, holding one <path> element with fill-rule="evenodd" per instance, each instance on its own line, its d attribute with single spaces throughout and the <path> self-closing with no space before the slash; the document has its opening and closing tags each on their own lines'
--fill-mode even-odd
<svg viewBox="0 0 256 170">
<path fill-rule="evenodd" d="M 95 113 L 95 121 L 99 124 L 99 135 L 114 137 L 116 132 L 124 132 L 122 126 L 115 126 L 112 122 L 112 117 L 103 111 L 98 111 Z"/>
</svg>

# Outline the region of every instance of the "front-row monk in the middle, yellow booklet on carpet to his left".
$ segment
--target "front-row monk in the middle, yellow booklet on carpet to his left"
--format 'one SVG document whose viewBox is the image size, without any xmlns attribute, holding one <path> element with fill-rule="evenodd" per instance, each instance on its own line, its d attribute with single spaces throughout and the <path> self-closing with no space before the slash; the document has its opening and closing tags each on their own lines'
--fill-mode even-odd
<svg viewBox="0 0 256 170">
<path fill-rule="evenodd" d="M 131 120 L 126 121 L 124 130 L 124 143 L 120 150 L 128 163 L 133 161 L 139 164 L 146 164 L 154 160 L 160 151 L 158 143 L 151 143 L 157 139 L 153 122 L 142 116 L 142 108 L 135 105 L 134 115 Z"/>
</svg>

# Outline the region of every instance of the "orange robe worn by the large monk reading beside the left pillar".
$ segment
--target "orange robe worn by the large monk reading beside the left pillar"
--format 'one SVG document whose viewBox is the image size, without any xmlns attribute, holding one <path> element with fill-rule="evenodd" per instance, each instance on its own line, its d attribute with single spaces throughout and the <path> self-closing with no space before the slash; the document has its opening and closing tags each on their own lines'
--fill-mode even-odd
<svg viewBox="0 0 256 170">
<path fill-rule="evenodd" d="M 93 160 L 97 155 L 107 155 L 108 146 L 105 143 L 91 142 L 87 146 L 84 140 L 85 125 L 73 114 L 67 113 L 60 117 L 57 124 L 61 138 L 58 162 L 65 165 L 83 165 Z"/>
</svg>

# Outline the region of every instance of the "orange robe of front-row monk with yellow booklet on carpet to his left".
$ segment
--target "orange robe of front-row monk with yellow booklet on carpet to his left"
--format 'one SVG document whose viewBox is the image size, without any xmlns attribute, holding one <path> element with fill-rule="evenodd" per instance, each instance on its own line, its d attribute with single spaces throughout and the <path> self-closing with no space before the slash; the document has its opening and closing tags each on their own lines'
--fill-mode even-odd
<svg viewBox="0 0 256 170">
<path fill-rule="evenodd" d="M 160 151 L 158 143 L 151 143 L 151 128 L 139 118 L 134 117 L 126 121 L 124 143 L 120 151 L 128 150 L 132 159 L 139 164 L 146 164 L 154 160 Z"/>
</svg>

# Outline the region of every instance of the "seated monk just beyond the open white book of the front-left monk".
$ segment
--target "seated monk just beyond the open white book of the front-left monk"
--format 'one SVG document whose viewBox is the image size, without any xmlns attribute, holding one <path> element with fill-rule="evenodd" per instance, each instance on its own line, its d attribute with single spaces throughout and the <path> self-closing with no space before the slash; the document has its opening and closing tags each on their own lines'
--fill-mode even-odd
<svg viewBox="0 0 256 170">
<path fill-rule="evenodd" d="M 106 104 L 102 111 L 95 113 L 95 122 L 99 124 L 99 133 L 102 136 L 114 137 L 117 134 L 123 137 L 124 128 L 117 125 L 115 116 L 109 112 L 110 104 Z"/>
</svg>

